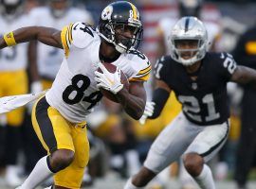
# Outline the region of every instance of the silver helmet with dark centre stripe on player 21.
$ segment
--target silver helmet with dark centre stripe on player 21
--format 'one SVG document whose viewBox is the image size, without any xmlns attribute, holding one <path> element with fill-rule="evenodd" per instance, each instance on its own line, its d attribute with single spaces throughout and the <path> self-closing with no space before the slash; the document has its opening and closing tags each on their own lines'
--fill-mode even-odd
<svg viewBox="0 0 256 189">
<path fill-rule="evenodd" d="M 185 66 L 202 60 L 207 52 L 209 41 L 206 27 L 196 17 L 182 17 L 174 25 L 171 36 L 171 56 Z M 190 41 L 196 43 L 194 48 L 179 48 L 178 43 Z M 190 58 L 183 58 L 184 53 L 191 53 Z"/>
</svg>

